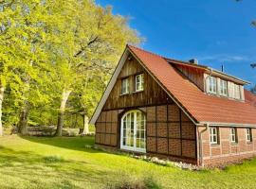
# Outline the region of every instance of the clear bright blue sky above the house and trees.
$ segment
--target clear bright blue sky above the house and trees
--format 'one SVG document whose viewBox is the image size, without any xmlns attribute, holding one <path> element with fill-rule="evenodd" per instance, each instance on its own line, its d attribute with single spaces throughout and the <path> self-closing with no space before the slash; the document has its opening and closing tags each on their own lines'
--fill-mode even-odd
<svg viewBox="0 0 256 189">
<path fill-rule="evenodd" d="M 256 0 L 96 0 L 129 16 L 146 39 L 141 47 L 177 59 L 196 58 L 256 84 Z M 249 87 L 249 86 L 248 86 Z"/>
</svg>

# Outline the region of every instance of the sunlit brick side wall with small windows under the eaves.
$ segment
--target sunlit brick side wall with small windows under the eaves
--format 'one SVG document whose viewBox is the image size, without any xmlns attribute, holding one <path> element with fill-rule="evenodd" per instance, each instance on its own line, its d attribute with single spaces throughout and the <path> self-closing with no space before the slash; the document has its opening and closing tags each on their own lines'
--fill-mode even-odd
<svg viewBox="0 0 256 189">
<path fill-rule="evenodd" d="M 198 128 L 202 131 L 205 127 Z M 234 162 L 240 162 L 244 159 L 256 155 L 256 129 L 252 129 L 252 142 L 247 143 L 246 129 L 237 128 L 238 142 L 230 142 L 230 128 L 218 128 L 219 144 L 210 145 L 209 129 L 202 134 L 202 154 L 203 163 L 206 166 L 225 165 Z M 199 142 L 198 142 L 199 143 Z M 198 145 L 199 146 L 199 145 Z"/>
</svg>

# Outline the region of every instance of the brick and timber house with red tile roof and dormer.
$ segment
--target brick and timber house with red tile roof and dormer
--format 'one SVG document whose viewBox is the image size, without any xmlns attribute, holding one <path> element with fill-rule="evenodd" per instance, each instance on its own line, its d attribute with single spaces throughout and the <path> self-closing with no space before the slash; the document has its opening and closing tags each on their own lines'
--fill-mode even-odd
<svg viewBox="0 0 256 189">
<path fill-rule="evenodd" d="M 127 45 L 90 123 L 96 144 L 215 166 L 256 155 L 247 81 Z"/>
</svg>

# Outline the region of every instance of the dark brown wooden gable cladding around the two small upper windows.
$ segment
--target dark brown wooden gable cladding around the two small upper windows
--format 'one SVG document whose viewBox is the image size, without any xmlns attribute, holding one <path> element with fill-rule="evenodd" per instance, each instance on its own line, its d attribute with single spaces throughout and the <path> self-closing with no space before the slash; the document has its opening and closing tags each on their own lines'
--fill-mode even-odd
<svg viewBox="0 0 256 189">
<path fill-rule="evenodd" d="M 135 77 L 144 74 L 144 90 L 135 92 Z M 129 94 L 121 95 L 121 79 L 129 79 Z M 156 83 L 140 63 L 131 55 L 125 61 L 116 84 L 106 100 L 103 111 L 122 108 L 135 108 L 150 105 L 173 103 L 171 98 Z"/>
</svg>

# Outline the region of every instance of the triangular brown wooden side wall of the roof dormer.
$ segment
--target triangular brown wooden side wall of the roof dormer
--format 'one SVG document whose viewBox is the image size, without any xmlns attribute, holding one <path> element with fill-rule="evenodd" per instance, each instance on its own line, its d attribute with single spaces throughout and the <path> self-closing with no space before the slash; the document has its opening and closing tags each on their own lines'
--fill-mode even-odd
<svg viewBox="0 0 256 189">
<path fill-rule="evenodd" d="M 204 72 L 188 66 L 175 66 L 184 76 L 188 77 L 200 90 L 204 91 Z"/>
</svg>

